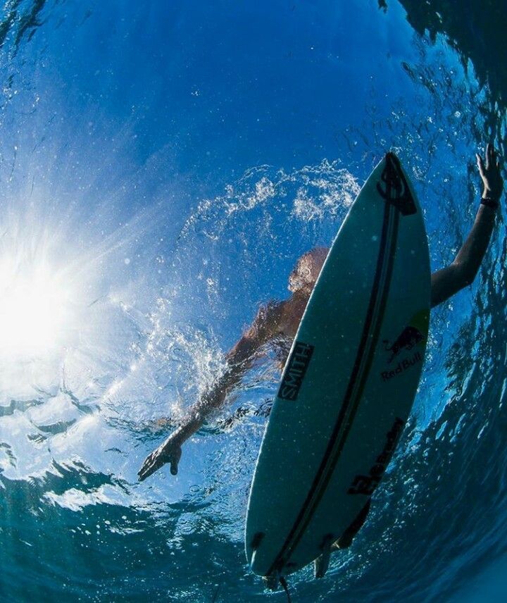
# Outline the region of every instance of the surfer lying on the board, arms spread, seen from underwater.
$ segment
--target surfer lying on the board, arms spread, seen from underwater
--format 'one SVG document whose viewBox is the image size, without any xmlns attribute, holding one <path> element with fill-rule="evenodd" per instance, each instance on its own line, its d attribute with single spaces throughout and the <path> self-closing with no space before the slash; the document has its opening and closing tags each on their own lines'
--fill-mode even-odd
<svg viewBox="0 0 507 603">
<path fill-rule="evenodd" d="M 472 283 L 492 235 L 503 191 L 499 162 L 492 144 L 487 145 L 484 158 L 477 154 L 477 167 L 484 186 L 477 216 L 454 261 L 432 274 L 432 308 Z M 199 402 L 188 409 L 180 427 L 146 457 L 138 473 L 139 480 L 145 480 L 166 463 L 170 464 L 170 472 L 176 475 L 184 442 L 201 428 L 208 415 L 223 406 L 227 394 L 238 385 L 242 375 L 261 355 L 263 347 L 280 340 L 292 342 L 328 251 L 326 247 L 315 247 L 301 256 L 289 275 L 289 299 L 269 301 L 261 306 L 251 326 L 225 356 L 228 367 L 225 373 L 215 380 Z M 351 544 L 353 536 L 363 525 L 369 508 L 370 500 L 344 535 L 334 543 L 334 549 Z"/>
</svg>

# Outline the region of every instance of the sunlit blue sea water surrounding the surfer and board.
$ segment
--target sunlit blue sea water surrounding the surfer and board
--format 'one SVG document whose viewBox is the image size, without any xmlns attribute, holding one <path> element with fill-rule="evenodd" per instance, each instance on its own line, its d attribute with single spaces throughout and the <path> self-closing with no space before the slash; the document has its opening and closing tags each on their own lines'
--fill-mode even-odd
<svg viewBox="0 0 507 603">
<path fill-rule="evenodd" d="M 475 152 L 503 148 L 501 55 L 464 9 L 379 4 L 4 2 L 0 286 L 21 294 L 0 312 L 2 600 L 285 600 L 242 542 L 274 358 L 176 478 L 137 470 L 387 149 L 432 269 L 467 235 Z M 294 601 L 507 596 L 505 241 L 499 220 L 473 285 L 433 311 L 370 518 L 325 579 L 291 577 Z M 32 325 L 48 303 L 57 320 Z"/>
</svg>

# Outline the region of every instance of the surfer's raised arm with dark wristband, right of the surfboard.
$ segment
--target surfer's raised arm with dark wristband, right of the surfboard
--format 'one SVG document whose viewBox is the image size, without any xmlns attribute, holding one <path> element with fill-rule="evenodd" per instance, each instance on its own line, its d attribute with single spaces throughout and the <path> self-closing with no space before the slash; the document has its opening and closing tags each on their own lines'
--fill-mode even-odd
<svg viewBox="0 0 507 603">
<path fill-rule="evenodd" d="M 470 285 L 479 271 L 493 232 L 496 212 L 503 190 L 499 162 L 492 144 L 487 145 L 485 160 L 477 155 L 477 166 L 484 185 L 474 225 L 456 259 L 450 266 L 432 274 L 432 307 L 442 304 L 453 294 Z"/>
</svg>

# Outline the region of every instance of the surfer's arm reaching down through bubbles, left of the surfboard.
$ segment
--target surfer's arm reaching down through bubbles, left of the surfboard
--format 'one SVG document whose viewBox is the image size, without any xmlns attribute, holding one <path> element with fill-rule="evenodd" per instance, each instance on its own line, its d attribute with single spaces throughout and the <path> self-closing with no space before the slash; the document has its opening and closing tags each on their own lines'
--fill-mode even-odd
<svg viewBox="0 0 507 603">
<path fill-rule="evenodd" d="M 227 361 L 225 373 L 208 391 L 204 392 L 199 402 L 190 406 L 182 425 L 146 457 L 137 474 L 140 481 L 145 480 L 166 463 L 170 463 L 170 472 L 176 475 L 182 445 L 201 428 L 209 414 L 222 406 L 227 393 L 239 383 L 245 371 L 256 359 L 259 349 L 275 336 L 280 309 L 280 304 L 274 303 L 259 309 L 250 328 L 225 356 Z"/>
</svg>

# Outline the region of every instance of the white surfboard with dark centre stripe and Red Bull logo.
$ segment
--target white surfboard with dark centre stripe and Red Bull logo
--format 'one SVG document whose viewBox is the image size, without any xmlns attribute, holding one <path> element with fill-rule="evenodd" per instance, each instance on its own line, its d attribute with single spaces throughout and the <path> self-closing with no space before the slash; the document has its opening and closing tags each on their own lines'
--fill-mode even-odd
<svg viewBox="0 0 507 603">
<path fill-rule="evenodd" d="M 246 516 L 254 573 L 328 554 L 368 502 L 413 405 L 429 316 L 423 215 L 388 153 L 339 228 L 282 373 Z"/>
</svg>

